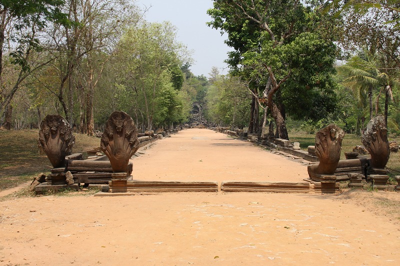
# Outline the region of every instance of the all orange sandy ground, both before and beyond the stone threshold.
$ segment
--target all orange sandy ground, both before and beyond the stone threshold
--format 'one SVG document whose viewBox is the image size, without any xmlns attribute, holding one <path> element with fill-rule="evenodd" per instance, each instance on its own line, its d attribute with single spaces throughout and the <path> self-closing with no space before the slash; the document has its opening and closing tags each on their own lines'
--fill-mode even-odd
<svg viewBox="0 0 400 266">
<path fill-rule="evenodd" d="M 219 133 L 185 130 L 134 159 L 141 171 L 149 180 L 299 181 L 306 169 Z M 399 220 L 366 204 L 398 195 L 13 198 L 0 201 L 0 265 L 400 265 Z"/>
</svg>

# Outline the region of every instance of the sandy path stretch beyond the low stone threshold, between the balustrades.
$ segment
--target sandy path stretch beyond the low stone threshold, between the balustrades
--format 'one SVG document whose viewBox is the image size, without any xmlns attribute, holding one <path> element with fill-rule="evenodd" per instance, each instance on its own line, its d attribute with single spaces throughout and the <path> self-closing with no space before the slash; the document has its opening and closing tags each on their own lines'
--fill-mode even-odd
<svg viewBox="0 0 400 266">
<path fill-rule="evenodd" d="M 247 141 L 208 129 L 183 130 L 142 152 L 133 161 L 133 179 L 220 183 L 301 182 L 308 178 L 307 167 L 298 160 L 277 156 Z"/>
</svg>

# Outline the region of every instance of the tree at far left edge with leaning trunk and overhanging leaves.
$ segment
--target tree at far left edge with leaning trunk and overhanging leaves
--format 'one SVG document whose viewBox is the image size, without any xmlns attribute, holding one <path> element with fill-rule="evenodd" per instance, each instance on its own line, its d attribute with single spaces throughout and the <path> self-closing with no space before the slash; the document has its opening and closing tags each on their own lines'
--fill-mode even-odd
<svg viewBox="0 0 400 266">
<path fill-rule="evenodd" d="M 0 124 L 10 116 L 10 102 L 30 73 L 47 62 L 36 61 L 42 46 L 38 32 L 51 23 L 69 25 L 66 14 L 60 11 L 63 0 L 7 0 L 0 4 Z M 18 74 L 10 88 L 3 77 L 4 51 L 6 60 L 18 67 Z M 9 118 L 9 117 L 8 117 Z M 7 128 L 9 128 L 7 126 Z"/>
</svg>

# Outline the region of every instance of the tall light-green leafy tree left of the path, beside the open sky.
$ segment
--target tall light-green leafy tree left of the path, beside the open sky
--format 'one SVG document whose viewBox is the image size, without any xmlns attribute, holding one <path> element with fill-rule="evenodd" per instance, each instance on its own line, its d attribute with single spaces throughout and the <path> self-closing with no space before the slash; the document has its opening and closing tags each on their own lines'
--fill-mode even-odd
<svg viewBox="0 0 400 266">
<path fill-rule="evenodd" d="M 131 27 L 118 43 L 116 55 L 124 66 L 120 82 L 136 99 L 134 116 L 145 117 L 147 130 L 165 122 L 167 113 L 181 106 L 175 98 L 181 79 L 176 77 L 186 50 L 176 41 L 176 28 L 169 22 Z"/>
</svg>

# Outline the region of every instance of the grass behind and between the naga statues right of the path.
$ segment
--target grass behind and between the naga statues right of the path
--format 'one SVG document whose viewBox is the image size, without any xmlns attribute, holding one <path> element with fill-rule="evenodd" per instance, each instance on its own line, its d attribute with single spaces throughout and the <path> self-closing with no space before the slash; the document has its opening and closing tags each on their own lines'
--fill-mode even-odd
<svg viewBox="0 0 400 266">
<path fill-rule="evenodd" d="M 310 145 L 315 145 L 315 134 L 301 134 L 301 133 L 293 133 L 289 134 L 289 139 L 292 142 L 299 142 L 300 143 L 300 148 L 304 151 L 307 150 L 307 147 Z M 400 143 L 400 137 L 388 137 L 389 141 L 397 141 L 397 143 Z M 361 137 L 356 136 L 355 134 L 346 134 L 343 138 L 343 141 L 341 143 L 341 154 L 340 154 L 340 159 L 344 160 L 345 152 L 352 152 L 353 148 L 357 145 L 362 145 L 361 143 Z M 391 170 L 392 175 L 400 175 L 400 152 L 391 152 L 389 161 L 387 162 L 386 167 L 388 167 Z"/>
</svg>

